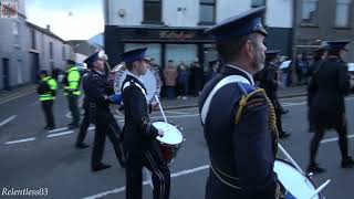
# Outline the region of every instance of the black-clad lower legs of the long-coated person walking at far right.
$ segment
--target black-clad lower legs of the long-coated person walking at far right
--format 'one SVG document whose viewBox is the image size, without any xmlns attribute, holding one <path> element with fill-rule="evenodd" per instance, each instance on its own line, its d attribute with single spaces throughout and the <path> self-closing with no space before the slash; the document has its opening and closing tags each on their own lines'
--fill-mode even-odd
<svg viewBox="0 0 354 199">
<path fill-rule="evenodd" d="M 340 145 L 340 150 L 341 150 L 341 155 L 342 155 L 342 159 L 346 159 L 348 157 L 348 153 L 347 153 L 347 127 L 346 127 L 346 123 L 344 122 L 341 125 L 336 125 L 334 127 L 334 129 L 336 130 L 336 133 L 339 134 L 339 145 Z M 314 165 L 315 163 L 315 158 L 316 158 L 316 154 L 320 147 L 320 143 L 324 136 L 324 132 L 325 129 L 322 127 L 315 127 L 315 132 L 314 135 L 311 139 L 310 143 L 310 165 Z"/>
</svg>

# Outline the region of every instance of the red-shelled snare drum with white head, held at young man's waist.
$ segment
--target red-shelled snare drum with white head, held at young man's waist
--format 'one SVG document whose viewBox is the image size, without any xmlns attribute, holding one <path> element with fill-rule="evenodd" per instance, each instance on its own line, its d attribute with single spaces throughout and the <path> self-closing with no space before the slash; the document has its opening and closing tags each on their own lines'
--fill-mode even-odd
<svg viewBox="0 0 354 199">
<path fill-rule="evenodd" d="M 170 166 L 174 163 L 181 143 L 184 142 L 181 130 L 173 123 L 166 123 L 163 121 L 154 122 L 153 125 L 165 133 L 164 137 L 156 137 L 156 139 L 159 142 L 159 148 L 166 164 Z"/>
</svg>

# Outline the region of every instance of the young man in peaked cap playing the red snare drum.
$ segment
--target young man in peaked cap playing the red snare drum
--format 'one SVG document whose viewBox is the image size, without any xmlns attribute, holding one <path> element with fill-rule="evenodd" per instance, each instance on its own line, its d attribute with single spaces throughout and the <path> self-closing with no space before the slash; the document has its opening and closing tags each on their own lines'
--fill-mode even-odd
<svg viewBox="0 0 354 199">
<path fill-rule="evenodd" d="M 139 80 L 147 71 L 146 49 L 125 52 L 122 57 L 128 73 L 122 84 L 125 114 L 124 146 L 127 154 L 126 198 L 142 198 L 142 168 L 153 172 L 154 199 L 169 197 L 170 174 L 156 140 L 164 132 L 149 122 L 149 112 L 158 104 L 148 104 L 146 88 Z"/>
</svg>

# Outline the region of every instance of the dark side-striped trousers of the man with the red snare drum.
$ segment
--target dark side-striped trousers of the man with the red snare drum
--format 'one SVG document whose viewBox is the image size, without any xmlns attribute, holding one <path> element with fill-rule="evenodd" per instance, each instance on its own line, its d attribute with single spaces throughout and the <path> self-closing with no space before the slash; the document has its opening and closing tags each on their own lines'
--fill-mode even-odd
<svg viewBox="0 0 354 199">
<path fill-rule="evenodd" d="M 135 155 L 136 154 L 136 155 Z M 126 198 L 140 199 L 143 197 L 143 167 L 153 172 L 154 199 L 168 199 L 170 189 L 170 172 L 163 159 L 158 147 L 150 147 L 146 151 L 128 153 L 126 165 Z"/>
</svg>

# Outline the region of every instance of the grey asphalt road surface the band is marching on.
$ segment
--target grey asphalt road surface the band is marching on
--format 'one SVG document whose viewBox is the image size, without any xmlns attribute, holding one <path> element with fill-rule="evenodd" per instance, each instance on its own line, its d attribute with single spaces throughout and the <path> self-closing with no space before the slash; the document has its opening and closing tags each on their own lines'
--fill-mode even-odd
<svg viewBox="0 0 354 199">
<path fill-rule="evenodd" d="M 354 98 L 347 101 L 350 153 L 354 154 Z M 309 157 L 306 104 L 305 98 L 282 101 L 290 113 L 283 116 L 283 126 L 292 136 L 282 140 L 282 146 L 291 157 L 305 168 Z M 58 129 L 46 132 L 40 103 L 34 94 L 15 98 L 0 105 L 0 198 L 9 190 L 40 190 L 46 198 L 125 198 L 125 171 L 118 167 L 113 147 L 106 142 L 104 163 L 113 167 L 100 172 L 91 172 L 92 147 L 75 149 L 76 130 L 65 129 L 70 123 L 64 97 L 59 94 L 55 102 Z M 183 128 L 184 142 L 177 158 L 170 167 L 173 174 L 173 199 L 204 198 L 205 184 L 209 171 L 207 146 L 202 137 L 197 108 L 166 111 L 168 121 Z M 122 125 L 122 118 L 117 117 Z M 162 119 L 158 113 L 153 119 Z M 93 129 L 93 127 L 92 127 Z M 354 169 L 341 169 L 336 134 L 329 132 L 321 145 L 317 161 L 326 172 L 314 176 L 317 184 L 326 179 L 332 182 L 323 193 L 330 199 L 354 198 Z M 93 130 L 86 143 L 92 146 Z M 280 156 L 282 157 L 282 156 Z M 152 184 L 144 171 L 144 198 L 152 198 Z M 37 196 L 31 198 L 43 198 Z"/>
</svg>

